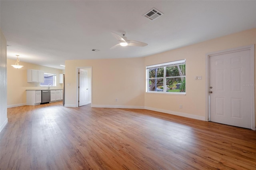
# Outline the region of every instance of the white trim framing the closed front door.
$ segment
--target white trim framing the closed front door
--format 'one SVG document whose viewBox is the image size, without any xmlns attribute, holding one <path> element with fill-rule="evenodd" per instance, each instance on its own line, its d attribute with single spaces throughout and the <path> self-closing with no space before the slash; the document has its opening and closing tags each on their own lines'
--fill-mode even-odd
<svg viewBox="0 0 256 170">
<path fill-rule="evenodd" d="M 251 62 L 251 129 L 256 130 L 255 128 L 255 83 L 254 83 L 254 44 L 252 45 L 247 45 L 243 47 L 237 47 L 237 48 L 232 48 L 232 49 L 225 49 L 222 51 L 216 51 L 216 52 L 211 52 L 206 54 L 206 115 L 205 115 L 205 121 L 210 121 L 210 95 L 209 95 L 209 78 L 210 78 L 210 57 L 215 56 L 215 55 L 221 55 L 221 54 L 226 54 L 226 53 L 233 53 L 233 52 L 238 52 L 238 51 L 245 51 L 245 50 L 250 50 L 250 62 Z"/>
</svg>

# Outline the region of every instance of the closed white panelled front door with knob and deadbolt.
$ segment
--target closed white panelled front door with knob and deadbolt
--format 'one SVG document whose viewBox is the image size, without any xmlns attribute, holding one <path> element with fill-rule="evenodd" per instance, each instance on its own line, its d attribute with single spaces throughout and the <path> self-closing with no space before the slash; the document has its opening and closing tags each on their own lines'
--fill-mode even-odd
<svg viewBox="0 0 256 170">
<path fill-rule="evenodd" d="M 250 62 L 250 49 L 209 57 L 210 121 L 252 128 Z"/>
</svg>

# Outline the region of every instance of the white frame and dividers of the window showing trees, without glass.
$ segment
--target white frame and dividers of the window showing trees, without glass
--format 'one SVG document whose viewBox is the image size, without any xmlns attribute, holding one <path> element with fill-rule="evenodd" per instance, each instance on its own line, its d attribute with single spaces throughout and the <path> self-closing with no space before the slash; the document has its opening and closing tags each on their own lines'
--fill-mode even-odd
<svg viewBox="0 0 256 170">
<path fill-rule="evenodd" d="M 186 64 L 186 59 L 182 59 L 182 60 L 178 60 L 178 61 L 171 61 L 168 63 L 161 63 L 161 64 L 155 64 L 155 65 L 149 65 L 146 66 L 146 93 L 164 93 L 164 94 L 180 94 L 180 95 L 185 95 L 186 92 L 166 92 L 166 78 L 176 78 L 176 77 L 185 77 L 186 79 L 186 75 L 184 76 L 175 76 L 175 77 L 166 77 L 166 67 L 170 67 L 170 66 L 174 66 L 174 65 L 182 65 L 182 64 Z M 150 69 L 155 69 L 155 68 L 161 68 L 164 67 L 164 77 L 156 77 L 154 79 L 163 79 L 163 84 L 164 84 L 164 89 L 163 91 L 149 91 L 149 70 Z"/>
</svg>

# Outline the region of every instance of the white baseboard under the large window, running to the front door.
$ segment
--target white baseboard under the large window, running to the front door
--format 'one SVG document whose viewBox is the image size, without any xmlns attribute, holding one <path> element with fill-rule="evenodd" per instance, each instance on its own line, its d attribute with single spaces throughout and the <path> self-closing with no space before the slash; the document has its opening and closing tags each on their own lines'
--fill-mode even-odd
<svg viewBox="0 0 256 170">
<path fill-rule="evenodd" d="M 157 111 L 157 112 L 162 112 L 162 113 L 168 113 L 171 115 L 177 115 L 177 116 L 182 116 L 182 117 L 188 117 L 191 119 L 197 119 L 200 121 L 205 121 L 204 116 L 191 115 L 188 113 L 174 112 L 174 111 L 169 111 L 169 110 L 164 110 L 164 109 L 157 109 L 157 108 L 153 108 L 153 107 L 145 107 L 145 109 L 150 110 L 150 111 Z"/>
</svg>

